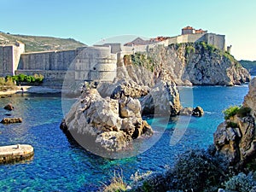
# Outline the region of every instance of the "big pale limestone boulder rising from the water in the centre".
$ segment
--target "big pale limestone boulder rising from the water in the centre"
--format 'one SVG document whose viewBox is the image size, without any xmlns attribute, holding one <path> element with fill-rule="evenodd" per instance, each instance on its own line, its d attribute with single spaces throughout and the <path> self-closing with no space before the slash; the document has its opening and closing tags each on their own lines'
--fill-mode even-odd
<svg viewBox="0 0 256 192">
<path fill-rule="evenodd" d="M 83 146 L 87 149 L 98 147 L 117 152 L 130 145 L 133 139 L 153 134 L 140 111 L 137 99 L 129 96 L 121 96 L 119 100 L 102 98 L 96 89 L 84 90 L 67 113 L 61 128 L 80 144 L 89 145 Z"/>
</svg>

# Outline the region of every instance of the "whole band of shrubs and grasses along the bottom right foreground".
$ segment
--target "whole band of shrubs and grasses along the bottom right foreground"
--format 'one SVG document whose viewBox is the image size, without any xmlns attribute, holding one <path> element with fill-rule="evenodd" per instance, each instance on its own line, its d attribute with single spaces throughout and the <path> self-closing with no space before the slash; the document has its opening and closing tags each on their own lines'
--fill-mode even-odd
<svg viewBox="0 0 256 192">
<path fill-rule="evenodd" d="M 136 172 L 127 184 L 123 177 L 114 177 L 104 192 L 121 191 L 170 191 L 170 192 L 256 192 L 256 172 L 230 171 L 225 161 L 212 155 L 212 146 L 208 150 L 191 149 L 178 157 L 177 163 L 165 172 Z M 214 150 L 214 149 L 213 149 Z"/>
</svg>

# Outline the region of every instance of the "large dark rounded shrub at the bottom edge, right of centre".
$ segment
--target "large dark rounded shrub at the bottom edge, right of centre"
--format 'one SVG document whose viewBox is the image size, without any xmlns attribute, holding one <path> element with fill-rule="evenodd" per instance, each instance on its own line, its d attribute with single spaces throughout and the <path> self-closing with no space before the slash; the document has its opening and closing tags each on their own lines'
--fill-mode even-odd
<svg viewBox="0 0 256 192">
<path fill-rule="evenodd" d="M 205 150 L 189 150 L 180 155 L 172 174 L 173 185 L 183 191 L 211 191 L 224 177 L 218 160 L 214 160 Z M 173 179 L 172 179 L 173 180 Z"/>
</svg>

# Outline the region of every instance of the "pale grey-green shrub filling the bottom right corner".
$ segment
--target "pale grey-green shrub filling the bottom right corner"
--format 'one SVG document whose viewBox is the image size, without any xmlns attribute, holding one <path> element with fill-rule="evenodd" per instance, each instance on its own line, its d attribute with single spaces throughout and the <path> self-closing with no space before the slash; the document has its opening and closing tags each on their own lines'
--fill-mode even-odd
<svg viewBox="0 0 256 192">
<path fill-rule="evenodd" d="M 226 190 L 237 192 L 250 192 L 256 187 L 255 172 L 249 172 L 248 175 L 243 172 L 231 177 L 229 181 L 224 183 Z"/>
</svg>

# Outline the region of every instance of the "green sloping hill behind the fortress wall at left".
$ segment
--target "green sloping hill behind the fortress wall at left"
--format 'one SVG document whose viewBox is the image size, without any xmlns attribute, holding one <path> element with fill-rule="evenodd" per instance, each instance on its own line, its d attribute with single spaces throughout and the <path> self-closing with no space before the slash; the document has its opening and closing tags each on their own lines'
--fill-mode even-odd
<svg viewBox="0 0 256 192">
<path fill-rule="evenodd" d="M 0 44 L 14 44 L 20 41 L 25 44 L 26 52 L 44 51 L 44 50 L 62 50 L 84 47 L 85 44 L 76 41 L 73 38 L 52 38 L 28 35 L 14 35 L 0 32 Z"/>
</svg>

